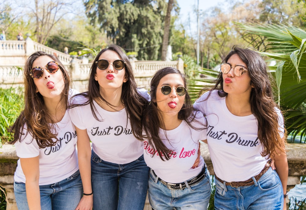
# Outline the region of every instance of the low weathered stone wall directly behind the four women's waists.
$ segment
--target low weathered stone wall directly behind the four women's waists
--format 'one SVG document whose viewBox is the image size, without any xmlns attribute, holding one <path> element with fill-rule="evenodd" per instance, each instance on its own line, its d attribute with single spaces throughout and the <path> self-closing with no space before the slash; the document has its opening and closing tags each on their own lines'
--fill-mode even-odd
<svg viewBox="0 0 306 210">
<path fill-rule="evenodd" d="M 201 144 L 201 154 L 207 164 L 210 174 L 214 175 L 214 168 L 206 144 Z M 305 154 L 306 144 L 294 143 L 287 145 L 287 159 L 289 165 L 288 191 L 300 183 L 301 176 L 306 175 Z M 6 210 L 17 210 L 13 190 L 14 172 L 16 170 L 17 160 L 18 157 L 16 156 L 15 147 L 13 145 L 4 144 L 2 148 L 0 148 L 0 186 L 6 189 Z M 144 210 L 149 209 L 151 208 L 147 200 Z"/>
</svg>

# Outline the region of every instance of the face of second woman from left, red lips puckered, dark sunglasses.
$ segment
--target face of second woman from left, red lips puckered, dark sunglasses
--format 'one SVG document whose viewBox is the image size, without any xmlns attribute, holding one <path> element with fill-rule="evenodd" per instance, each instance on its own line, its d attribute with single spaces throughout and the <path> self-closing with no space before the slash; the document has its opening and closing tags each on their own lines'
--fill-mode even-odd
<svg viewBox="0 0 306 210">
<path fill-rule="evenodd" d="M 121 58 L 116 52 L 106 50 L 99 56 L 99 60 L 102 59 L 107 60 L 109 64 L 105 70 L 96 67 L 95 80 L 98 81 L 100 90 L 114 91 L 116 89 L 122 89 L 123 83 L 127 81 L 127 78 L 125 78 L 125 67 L 121 70 L 116 70 L 112 63 L 115 60 L 121 60 Z"/>
</svg>

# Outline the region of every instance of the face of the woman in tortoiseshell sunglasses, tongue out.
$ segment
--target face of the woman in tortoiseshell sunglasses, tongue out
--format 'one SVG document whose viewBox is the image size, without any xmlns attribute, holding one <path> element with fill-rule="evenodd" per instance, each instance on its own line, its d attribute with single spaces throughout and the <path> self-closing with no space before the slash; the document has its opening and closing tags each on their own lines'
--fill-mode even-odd
<svg viewBox="0 0 306 210">
<path fill-rule="evenodd" d="M 49 56 L 39 56 L 32 65 L 32 68 L 41 67 L 43 69 L 43 75 L 40 78 L 33 78 L 33 80 L 36 92 L 39 92 L 44 98 L 60 97 L 65 87 L 61 69 L 58 69 L 55 73 L 47 71 L 46 65 L 50 61 L 54 60 Z"/>
</svg>

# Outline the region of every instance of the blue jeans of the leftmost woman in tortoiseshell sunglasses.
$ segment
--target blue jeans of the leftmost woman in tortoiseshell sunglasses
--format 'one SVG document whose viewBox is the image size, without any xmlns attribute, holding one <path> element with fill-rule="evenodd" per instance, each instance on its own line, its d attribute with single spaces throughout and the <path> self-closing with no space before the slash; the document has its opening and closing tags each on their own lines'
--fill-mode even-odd
<svg viewBox="0 0 306 210">
<path fill-rule="evenodd" d="M 83 195 L 83 186 L 79 170 L 60 182 L 39 186 L 40 206 L 42 210 L 74 210 Z M 14 194 L 17 207 L 28 210 L 25 183 L 14 182 Z"/>
</svg>

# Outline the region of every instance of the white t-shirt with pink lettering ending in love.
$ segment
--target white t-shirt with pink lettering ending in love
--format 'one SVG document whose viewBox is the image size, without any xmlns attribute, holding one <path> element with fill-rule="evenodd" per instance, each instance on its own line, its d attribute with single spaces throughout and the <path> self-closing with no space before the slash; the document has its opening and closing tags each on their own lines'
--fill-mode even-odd
<svg viewBox="0 0 306 210">
<path fill-rule="evenodd" d="M 202 113 L 198 112 L 196 117 L 199 122 L 206 125 Z M 192 125 L 195 128 L 203 128 L 203 125 L 196 122 L 192 122 Z M 147 166 L 152 168 L 162 180 L 170 183 L 181 183 L 197 176 L 203 168 L 203 158 L 200 157 L 200 164 L 197 168 L 191 167 L 198 156 L 199 141 L 206 139 L 206 130 L 194 130 L 185 121 L 182 121 L 177 128 L 166 131 L 169 141 L 164 131 L 160 128 L 159 136 L 165 146 L 173 151 L 171 158 L 162 161 L 158 153 L 148 145 L 148 141 L 144 141 L 144 160 Z M 155 155 L 152 157 L 153 153 Z"/>
</svg>

